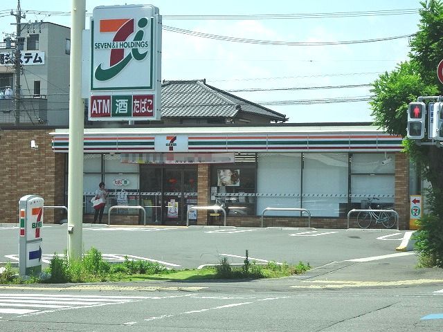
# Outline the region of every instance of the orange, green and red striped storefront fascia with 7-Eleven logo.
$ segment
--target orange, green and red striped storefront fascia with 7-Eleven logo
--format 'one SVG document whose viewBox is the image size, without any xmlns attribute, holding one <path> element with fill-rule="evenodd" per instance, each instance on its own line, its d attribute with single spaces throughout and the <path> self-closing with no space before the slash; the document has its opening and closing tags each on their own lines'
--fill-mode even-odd
<svg viewBox="0 0 443 332">
<path fill-rule="evenodd" d="M 376 127 L 226 127 L 86 129 L 84 153 L 401 151 L 401 136 Z M 55 152 L 68 152 L 69 131 L 51 133 Z M 163 157 L 162 157 L 163 158 Z"/>
</svg>

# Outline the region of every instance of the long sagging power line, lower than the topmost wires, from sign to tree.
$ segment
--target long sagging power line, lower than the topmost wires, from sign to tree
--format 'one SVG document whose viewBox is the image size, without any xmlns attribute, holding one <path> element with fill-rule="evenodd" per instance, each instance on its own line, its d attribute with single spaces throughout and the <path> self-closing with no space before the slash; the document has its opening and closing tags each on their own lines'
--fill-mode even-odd
<svg viewBox="0 0 443 332">
<path fill-rule="evenodd" d="M 172 33 L 181 33 L 183 35 L 191 35 L 195 37 L 223 40 L 225 42 L 275 45 L 275 46 L 280 46 L 280 45 L 281 46 L 335 46 L 335 45 L 349 45 L 349 44 L 365 44 L 365 43 L 374 43 L 374 42 L 386 42 L 388 40 L 394 40 L 394 39 L 410 38 L 414 35 L 410 34 L 410 35 L 401 35 L 401 36 L 383 37 L 383 38 L 374 38 L 374 39 L 347 40 L 341 42 L 281 42 L 273 40 L 247 39 L 247 38 L 228 37 L 222 35 L 212 35 L 209 33 L 199 33 L 197 31 L 185 30 L 181 28 L 174 28 L 173 26 L 164 26 L 164 25 L 163 25 L 163 30 L 170 31 Z"/>
</svg>

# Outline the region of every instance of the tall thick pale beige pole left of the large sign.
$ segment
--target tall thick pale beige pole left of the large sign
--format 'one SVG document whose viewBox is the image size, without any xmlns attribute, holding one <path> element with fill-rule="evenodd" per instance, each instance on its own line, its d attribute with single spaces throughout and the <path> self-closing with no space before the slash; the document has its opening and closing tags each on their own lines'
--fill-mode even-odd
<svg viewBox="0 0 443 332">
<path fill-rule="evenodd" d="M 71 59 L 69 67 L 68 257 L 82 257 L 84 102 L 82 82 L 82 30 L 86 0 L 72 0 Z"/>
</svg>

